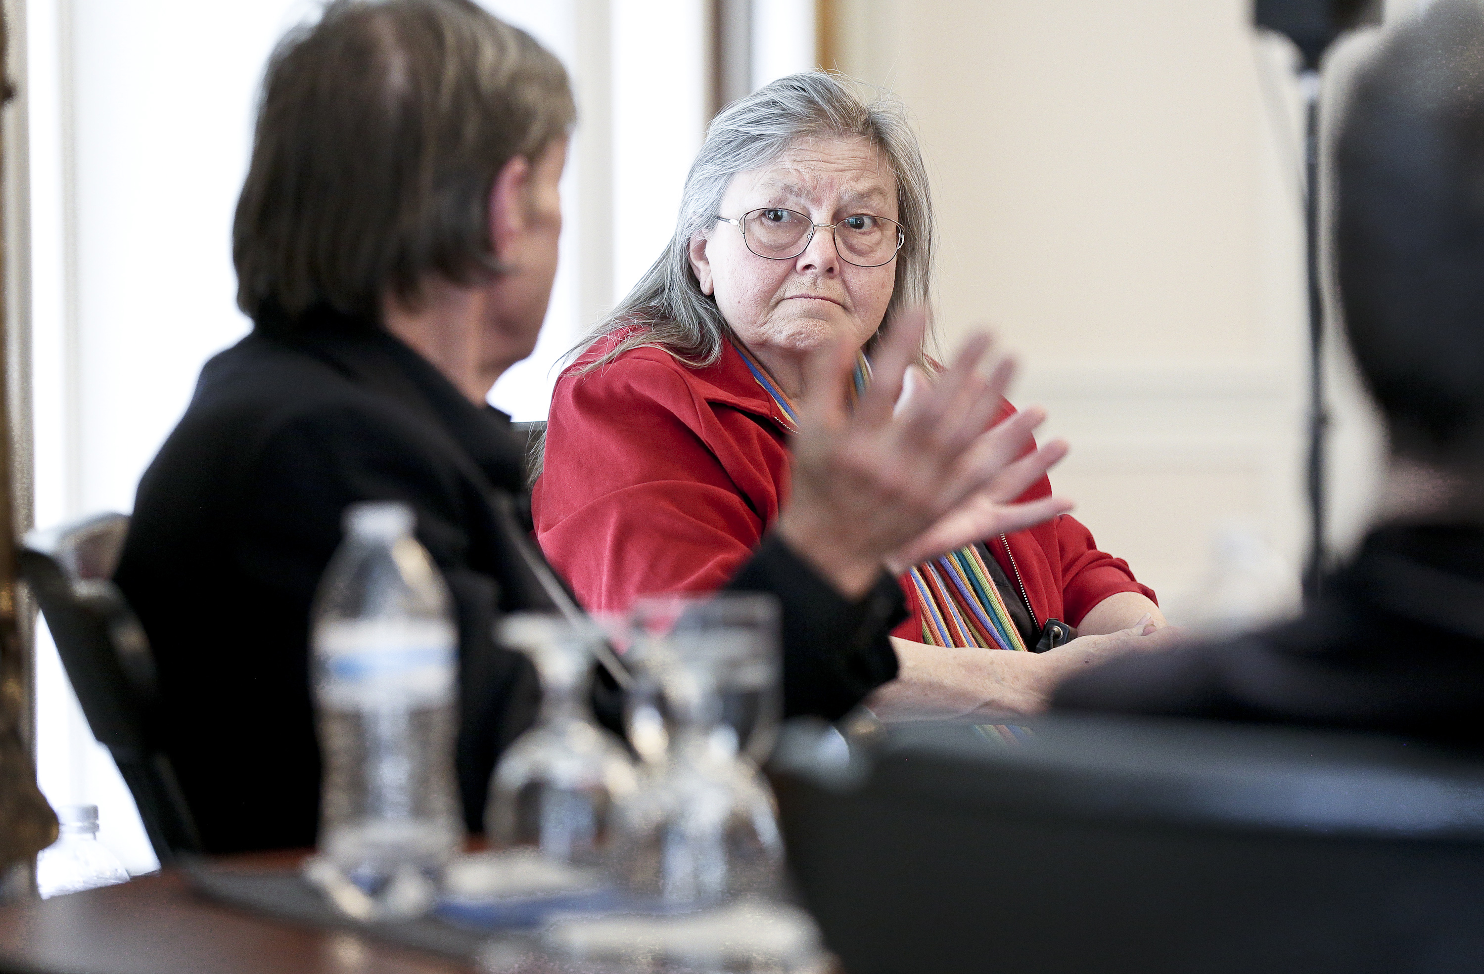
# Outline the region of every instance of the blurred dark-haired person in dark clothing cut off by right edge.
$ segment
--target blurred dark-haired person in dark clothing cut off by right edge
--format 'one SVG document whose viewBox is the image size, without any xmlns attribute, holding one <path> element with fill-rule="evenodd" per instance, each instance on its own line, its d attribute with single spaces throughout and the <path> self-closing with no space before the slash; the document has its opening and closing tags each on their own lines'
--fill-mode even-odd
<svg viewBox="0 0 1484 974">
<path fill-rule="evenodd" d="M 1055 706 L 1484 738 L 1484 7 L 1383 37 L 1336 142 L 1345 328 L 1386 421 L 1377 523 L 1291 623 L 1117 660 Z"/>
</svg>

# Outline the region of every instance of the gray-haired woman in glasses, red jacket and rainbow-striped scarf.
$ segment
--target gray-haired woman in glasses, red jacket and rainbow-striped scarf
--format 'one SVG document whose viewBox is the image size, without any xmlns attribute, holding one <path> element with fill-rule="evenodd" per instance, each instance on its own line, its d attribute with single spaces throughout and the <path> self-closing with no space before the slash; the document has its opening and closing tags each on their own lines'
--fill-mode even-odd
<svg viewBox="0 0 1484 974">
<path fill-rule="evenodd" d="M 930 273 L 926 170 L 895 102 L 807 73 L 718 114 L 674 239 L 552 399 L 536 531 L 588 608 L 720 589 L 769 531 L 828 544 L 784 503 L 828 489 L 791 482 L 789 455 L 800 424 L 840 409 L 828 387 L 850 374 L 864 390 L 873 356 L 907 342 L 919 366 L 898 409 L 911 408 L 984 353 L 976 338 L 944 369 L 926 357 Z M 991 381 L 1008 374 L 1002 362 Z M 974 433 L 1042 420 L 990 402 L 999 415 L 965 414 Z M 810 664 L 859 670 L 883 719 L 979 720 L 1034 713 L 1063 676 L 1166 645 L 1155 593 L 1051 497 L 1043 471 L 1064 452 L 1031 448 L 880 566 L 908 609 L 892 630 L 896 666 Z M 861 511 L 861 523 L 889 516 Z M 785 709 L 819 712 L 789 685 L 798 667 L 785 660 Z"/>
</svg>

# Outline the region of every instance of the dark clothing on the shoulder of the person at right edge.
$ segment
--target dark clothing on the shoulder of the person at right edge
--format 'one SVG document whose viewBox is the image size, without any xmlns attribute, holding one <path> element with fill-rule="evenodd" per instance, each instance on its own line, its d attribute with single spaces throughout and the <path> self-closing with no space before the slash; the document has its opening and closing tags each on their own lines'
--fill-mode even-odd
<svg viewBox="0 0 1484 974">
<path fill-rule="evenodd" d="M 1484 529 L 1389 525 L 1300 618 L 1067 680 L 1057 707 L 1484 743 Z"/>
</svg>

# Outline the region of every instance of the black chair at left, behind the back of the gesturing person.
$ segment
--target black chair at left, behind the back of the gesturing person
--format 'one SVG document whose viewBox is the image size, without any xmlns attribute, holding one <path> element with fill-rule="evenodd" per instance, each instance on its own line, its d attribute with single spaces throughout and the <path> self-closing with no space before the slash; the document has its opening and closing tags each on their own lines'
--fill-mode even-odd
<svg viewBox="0 0 1484 974">
<path fill-rule="evenodd" d="M 88 726 L 119 765 L 163 864 L 199 852 L 200 838 L 156 740 L 148 639 L 110 581 L 128 531 L 123 514 L 33 531 L 21 546 L 21 577 L 42 606 Z"/>
</svg>

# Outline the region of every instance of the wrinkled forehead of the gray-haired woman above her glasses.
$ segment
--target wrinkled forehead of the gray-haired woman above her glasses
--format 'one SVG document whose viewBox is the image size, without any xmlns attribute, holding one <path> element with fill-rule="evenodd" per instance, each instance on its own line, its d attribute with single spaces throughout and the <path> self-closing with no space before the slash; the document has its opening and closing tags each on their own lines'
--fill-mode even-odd
<svg viewBox="0 0 1484 974">
<path fill-rule="evenodd" d="M 886 153 L 867 139 L 804 138 L 766 166 L 735 175 L 726 197 L 748 206 L 809 203 L 895 218 L 896 175 Z"/>
</svg>

